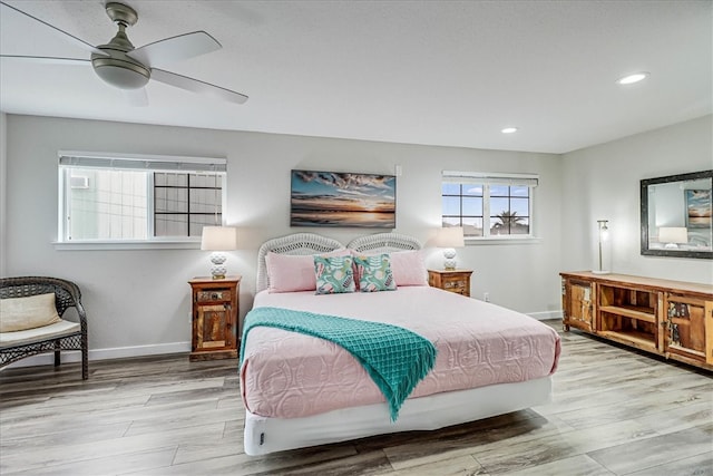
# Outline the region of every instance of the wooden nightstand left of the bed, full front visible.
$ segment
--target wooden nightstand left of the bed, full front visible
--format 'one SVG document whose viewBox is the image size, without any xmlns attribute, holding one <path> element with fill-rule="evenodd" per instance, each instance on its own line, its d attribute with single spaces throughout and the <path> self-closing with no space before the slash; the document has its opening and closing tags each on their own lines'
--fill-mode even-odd
<svg viewBox="0 0 713 476">
<path fill-rule="evenodd" d="M 194 278 L 188 281 L 193 290 L 192 361 L 237 357 L 241 278 Z"/>
</svg>

